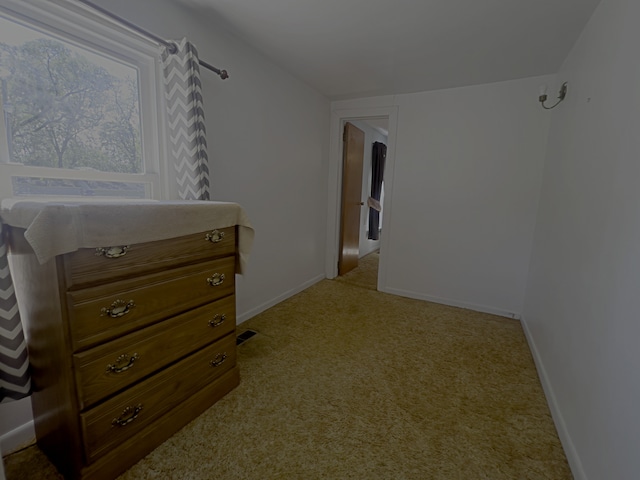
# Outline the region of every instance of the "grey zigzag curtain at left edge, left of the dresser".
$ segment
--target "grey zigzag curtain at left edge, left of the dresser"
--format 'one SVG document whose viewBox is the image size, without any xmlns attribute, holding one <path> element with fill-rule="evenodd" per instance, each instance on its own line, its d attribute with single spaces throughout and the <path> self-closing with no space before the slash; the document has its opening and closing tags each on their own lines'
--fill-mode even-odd
<svg viewBox="0 0 640 480">
<path fill-rule="evenodd" d="M 0 222 L 0 403 L 31 393 L 27 342 L 13 289 L 7 244 Z"/>
</svg>

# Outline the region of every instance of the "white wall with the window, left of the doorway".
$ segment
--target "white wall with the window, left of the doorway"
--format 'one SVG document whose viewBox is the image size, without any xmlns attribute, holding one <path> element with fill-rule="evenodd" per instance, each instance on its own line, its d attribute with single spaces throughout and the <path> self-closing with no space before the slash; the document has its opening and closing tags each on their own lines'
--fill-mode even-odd
<svg viewBox="0 0 640 480">
<path fill-rule="evenodd" d="M 161 37 L 188 36 L 203 60 L 229 71 L 225 81 L 204 69 L 201 77 L 213 198 L 240 203 L 256 231 L 238 277 L 239 320 L 324 278 L 329 101 L 213 18 L 168 0 L 96 3 Z M 19 442 L 7 433 L 29 426 L 28 399 L 0 405 L 0 417 L 7 453 Z"/>
</svg>

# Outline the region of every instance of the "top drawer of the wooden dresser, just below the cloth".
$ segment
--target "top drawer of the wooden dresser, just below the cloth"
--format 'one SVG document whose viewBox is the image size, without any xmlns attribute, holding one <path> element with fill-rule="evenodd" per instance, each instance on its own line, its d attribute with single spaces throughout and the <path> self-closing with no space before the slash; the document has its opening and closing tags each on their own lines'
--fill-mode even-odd
<svg viewBox="0 0 640 480">
<path fill-rule="evenodd" d="M 75 290 L 174 265 L 233 255 L 235 248 L 235 227 L 155 242 L 82 248 L 64 255 L 67 287 Z"/>
</svg>

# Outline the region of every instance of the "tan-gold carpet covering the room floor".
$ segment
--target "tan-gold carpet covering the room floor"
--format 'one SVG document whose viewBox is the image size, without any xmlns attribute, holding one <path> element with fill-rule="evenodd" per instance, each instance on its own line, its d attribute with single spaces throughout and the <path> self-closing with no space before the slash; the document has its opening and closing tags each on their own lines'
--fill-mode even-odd
<svg viewBox="0 0 640 480">
<path fill-rule="evenodd" d="M 377 259 L 240 325 L 240 386 L 120 478 L 571 479 L 520 324 L 379 293 Z"/>
</svg>

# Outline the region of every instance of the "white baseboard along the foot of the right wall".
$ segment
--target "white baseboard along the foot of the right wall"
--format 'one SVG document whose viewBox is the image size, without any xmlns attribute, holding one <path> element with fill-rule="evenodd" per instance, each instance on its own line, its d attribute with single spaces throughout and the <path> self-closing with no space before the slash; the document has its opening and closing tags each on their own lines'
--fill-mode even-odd
<svg viewBox="0 0 640 480">
<path fill-rule="evenodd" d="M 536 364 L 536 369 L 538 370 L 538 377 L 540 378 L 540 383 L 542 383 L 542 389 L 544 390 L 544 394 L 547 397 L 549 410 L 551 410 L 551 416 L 553 417 L 553 422 L 556 425 L 556 430 L 558 431 L 558 437 L 560 437 L 560 442 L 562 443 L 562 447 L 564 448 L 564 453 L 567 456 L 567 461 L 569 462 L 569 466 L 571 467 L 571 473 L 573 473 L 573 478 L 575 480 L 587 480 L 587 475 L 584 473 L 582 461 L 580 460 L 580 456 L 578 455 L 575 445 L 573 444 L 573 440 L 571 439 L 571 435 L 569 434 L 567 425 L 564 422 L 564 417 L 562 415 L 562 412 L 558 407 L 558 401 L 553 391 L 553 386 L 549 381 L 547 370 L 544 368 L 544 363 L 542 362 L 542 358 L 540 358 L 540 353 L 538 352 L 536 343 L 533 340 L 533 336 L 531 335 L 529 326 L 527 325 L 527 322 L 525 319 L 523 319 L 520 323 L 522 324 L 524 335 L 527 338 L 527 343 L 529 344 L 529 350 L 531 350 L 533 361 Z"/>
</svg>

